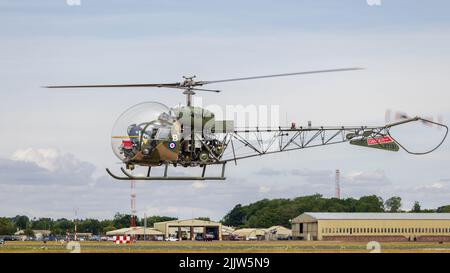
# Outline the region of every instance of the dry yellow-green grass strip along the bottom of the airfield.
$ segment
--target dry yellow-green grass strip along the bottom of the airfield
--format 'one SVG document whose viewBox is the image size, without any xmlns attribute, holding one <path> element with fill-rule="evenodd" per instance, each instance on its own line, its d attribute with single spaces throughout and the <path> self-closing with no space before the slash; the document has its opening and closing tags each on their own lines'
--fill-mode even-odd
<svg viewBox="0 0 450 273">
<path fill-rule="evenodd" d="M 6 242 L 0 253 L 69 253 L 61 242 Z M 306 241 L 214 241 L 214 242 L 137 242 L 116 245 L 112 242 L 80 242 L 81 253 L 348 253 L 370 252 L 366 243 L 358 242 L 306 242 Z M 450 253 L 450 243 L 381 243 L 381 252 Z"/>
</svg>

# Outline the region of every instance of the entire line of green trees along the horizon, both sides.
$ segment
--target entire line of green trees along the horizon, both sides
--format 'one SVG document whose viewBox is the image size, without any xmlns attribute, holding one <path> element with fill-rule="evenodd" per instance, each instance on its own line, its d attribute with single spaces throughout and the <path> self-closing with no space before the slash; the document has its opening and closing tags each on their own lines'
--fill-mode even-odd
<svg viewBox="0 0 450 273">
<path fill-rule="evenodd" d="M 437 209 L 422 209 L 419 202 L 415 202 L 410 210 L 402 210 L 402 200 L 398 196 L 384 201 L 376 195 L 355 198 L 324 198 L 320 194 L 302 196 L 293 199 L 263 199 L 249 205 L 236 205 L 221 220 L 224 225 L 233 227 L 267 228 L 274 225 L 291 227 L 290 219 L 304 212 L 450 212 L 450 205 Z M 169 216 L 147 217 L 147 226 L 152 227 L 155 222 L 177 220 Z M 207 220 L 208 217 L 196 219 Z M 53 235 L 64 235 L 73 232 L 75 223 L 77 232 L 89 232 L 96 235 L 108 231 L 129 227 L 130 214 L 116 213 L 113 219 L 76 219 L 65 218 L 33 218 L 17 215 L 12 218 L 0 217 L 0 235 L 12 235 L 17 230 L 24 230 L 26 235 L 32 236 L 33 230 L 50 230 Z M 144 219 L 137 218 L 136 225 L 143 226 Z"/>
</svg>

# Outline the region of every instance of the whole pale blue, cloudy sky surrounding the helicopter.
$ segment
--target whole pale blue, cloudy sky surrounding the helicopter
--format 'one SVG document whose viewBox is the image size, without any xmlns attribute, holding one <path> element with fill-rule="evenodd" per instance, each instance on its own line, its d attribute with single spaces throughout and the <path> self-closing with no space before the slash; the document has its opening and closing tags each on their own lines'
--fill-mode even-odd
<svg viewBox="0 0 450 273">
<path fill-rule="evenodd" d="M 174 90 L 54 90 L 52 84 L 216 80 L 339 67 L 327 73 L 212 86 L 203 106 L 277 106 L 280 122 L 382 125 L 385 111 L 450 120 L 448 1 L 0 0 L 0 215 L 110 218 L 130 185 L 110 134 L 143 101 Z M 69 5 L 69 4 L 71 5 Z M 419 124 L 420 126 L 420 124 Z M 425 128 L 426 129 L 426 128 Z M 404 135 L 412 148 L 437 129 Z M 450 204 L 450 149 L 424 156 L 348 144 L 243 160 L 224 182 L 137 182 L 137 213 L 220 220 L 263 198 L 401 196 L 403 209 Z M 176 170 L 178 171 L 178 170 Z"/>
</svg>

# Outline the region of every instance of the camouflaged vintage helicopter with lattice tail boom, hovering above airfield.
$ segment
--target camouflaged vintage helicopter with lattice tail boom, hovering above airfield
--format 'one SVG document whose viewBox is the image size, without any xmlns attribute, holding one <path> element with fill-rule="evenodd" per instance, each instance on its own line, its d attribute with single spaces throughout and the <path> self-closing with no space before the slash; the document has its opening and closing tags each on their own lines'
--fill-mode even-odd
<svg viewBox="0 0 450 273">
<path fill-rule="evenodd" d="M 173 83 L 141 84 L 97 84 L 97 85 L 57 85 L 46 88 L 173 88 L 186 96 L 186 105 L 169 108 L 158 102 L 143 102 L 127 109 L 115 122 L 111 136 L 114 154 L 120 159 L 122 176 L 108 168 L 106 172 L 118 180 L 225 180 L 225 166 L 228 162 L 263 155 L 282 153 L 306 148 L 327 146 L 349 142 L 365 148 L 397 152 L 402 148 L 411 154 L 427 154 L 436 150 L 444 142 L 448 127 L 442 123 L 416 117 L 407 117 L 383 126 L 335 126 L 313 127 L 278 126 L 274 128 L 234 126 L 233 120 L 216 120 L 214 113 L 193 106 L 192 97 L 196 92 L 220 90 L 205 89 L 203 86 L 224 82 L 256 80 L 274 77 L 297 76 L 316 73 L 331 73 L 361 70 L 363 68 L 337 68 L 303 71 L 295 73 L 230 78 L 213 81 L 197 81 L 196 76 L 183 77 L 183 81 Z M 445 128 L 442 141 L 433 149 L 414 153 L 407 150 L 390 133 L 393 127 L 421 121 Z M 252 137 L 249 137 L 249 136 Z M 136 166 L 146 167 L 146 175 L 133 175 Z M 154 176 L 154 167 L 164 167 L 164 174 Z M 172 176 L 169 166 L 200 167 L 198 176 Z M 207 176 L 208 166 L 219 166 L 220 175 Z"/>
</svg>

